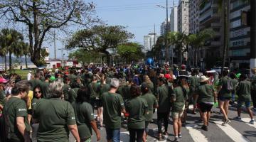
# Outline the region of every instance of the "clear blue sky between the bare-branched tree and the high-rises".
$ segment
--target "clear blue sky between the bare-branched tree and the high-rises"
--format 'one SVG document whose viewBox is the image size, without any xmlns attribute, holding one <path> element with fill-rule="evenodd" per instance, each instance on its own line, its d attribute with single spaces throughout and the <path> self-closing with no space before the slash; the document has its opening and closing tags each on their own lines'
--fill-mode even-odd
<svg viewBox="0 0 256 142">
<path fill-rule="evenodd" d="M 174 0 L 169 0 L 169 7 Z M 175 0 L 176 4 L 178 0 Z M 108 25 L 126 26 L 127 31 L 134 33 L 133 41 L 143 45 L 143 36 L 154 32 L 160 34 L 160 26 L 166 19 L 166 0 L 94 0 L 97 16 Z M 169 9 L 169 13 L 171 9 Z"/>
</svg>

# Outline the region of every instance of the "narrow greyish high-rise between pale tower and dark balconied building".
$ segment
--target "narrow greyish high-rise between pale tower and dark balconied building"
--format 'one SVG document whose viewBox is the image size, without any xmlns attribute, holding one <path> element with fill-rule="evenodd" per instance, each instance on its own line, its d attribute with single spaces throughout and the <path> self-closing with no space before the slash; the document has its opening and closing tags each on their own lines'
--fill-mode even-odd
<svg viewBox="0 0 256 142">
<path fill-rule="evenodd" d="M 189 1 L 189 33 L 199 31 L 199 0 Z"/>
</svg>

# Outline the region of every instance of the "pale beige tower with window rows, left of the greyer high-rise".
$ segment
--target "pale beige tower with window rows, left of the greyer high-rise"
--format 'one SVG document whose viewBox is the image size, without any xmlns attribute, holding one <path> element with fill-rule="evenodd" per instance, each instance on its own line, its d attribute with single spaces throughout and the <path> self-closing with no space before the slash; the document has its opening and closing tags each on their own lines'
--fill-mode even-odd
<svg viewBox="0 0 256 142">
<path fill-rule="evenodd" d="M 178 1 L 178 32 L 189 33 L 189 2 L 188 0 Z"/>
</svg>

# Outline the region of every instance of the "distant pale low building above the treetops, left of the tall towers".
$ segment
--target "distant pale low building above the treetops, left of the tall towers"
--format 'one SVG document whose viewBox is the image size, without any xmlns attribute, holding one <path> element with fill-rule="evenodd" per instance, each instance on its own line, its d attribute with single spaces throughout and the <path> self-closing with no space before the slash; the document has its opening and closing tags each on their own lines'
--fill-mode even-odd
<svg viewBox="0 0 256 142">
<path fill-rule="evenodd" d="M 158 36 L 156 33 L 149 33 L 148 35 L 144 35 L 144 52 L 151 50 L 157 40 Z"/>
</svg>

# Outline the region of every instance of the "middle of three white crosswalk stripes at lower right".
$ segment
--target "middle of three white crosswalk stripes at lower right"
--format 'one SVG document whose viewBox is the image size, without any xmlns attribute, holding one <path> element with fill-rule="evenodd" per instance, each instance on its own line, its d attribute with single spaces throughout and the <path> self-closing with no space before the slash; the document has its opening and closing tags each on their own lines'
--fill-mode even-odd
<svg viewBox="0 0 256 142">
<path fill-rule="evenodd" d="M 248 142 L 249 140 L 242 136 L 241 133 L 233 129 L 232 126 L 227 124 L 226 126 L 222 126 L 222 121 L 213 121 L 221 130 L 223 130 L 233 141 L 239 142 Z"/>
</svg>

